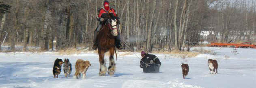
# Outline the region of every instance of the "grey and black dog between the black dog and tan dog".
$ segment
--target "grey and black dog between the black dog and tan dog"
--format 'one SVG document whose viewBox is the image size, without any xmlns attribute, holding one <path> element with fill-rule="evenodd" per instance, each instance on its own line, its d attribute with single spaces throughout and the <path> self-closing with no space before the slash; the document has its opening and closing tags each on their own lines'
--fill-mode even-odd
<svg viewBox="0 0 256 88">
<path fill-rule="evenodd" d="M 72 71 L 71 63 L 69 62 L 69 59 L 64 59 L 64 65 L 63 65 L 63 72 L 65 74 L 65 77 L 70 77 Z"/>
</svg>

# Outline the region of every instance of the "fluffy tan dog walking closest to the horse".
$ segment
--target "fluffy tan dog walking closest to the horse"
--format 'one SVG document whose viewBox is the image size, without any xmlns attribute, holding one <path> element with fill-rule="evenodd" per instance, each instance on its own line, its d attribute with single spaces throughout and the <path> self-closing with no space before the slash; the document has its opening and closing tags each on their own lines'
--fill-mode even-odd
<svg viewBox="0 0 256 88">
<path fill-rule="evenodd" d="M 84 61 L 82 59 L 77 59 L 75 62 L 75 76 L 74 78 L 81 78 L 81 73 L 83 74 L 83 79 L 86 76 L 86 71 L 90 67 L 90 61 Z M 78 77 L 79 76 L 79 77 Z"/>
</svg>

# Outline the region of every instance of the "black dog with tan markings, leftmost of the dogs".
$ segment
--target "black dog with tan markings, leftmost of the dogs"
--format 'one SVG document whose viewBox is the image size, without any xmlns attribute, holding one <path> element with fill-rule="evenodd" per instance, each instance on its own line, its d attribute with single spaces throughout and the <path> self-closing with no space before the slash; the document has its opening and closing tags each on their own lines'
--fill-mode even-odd
<svg viewBox="0 0 256 88">
<path fill-rule="evenodd" d="M 62 63 L 63 63 L 62 59 L 58 59 L 57 58 L 54 61 L 53 70 L 52 70 L 54 78 L 58 78 L 58 75 L 61 72 L 61 65 L 62 65 Z"/>
</svg>

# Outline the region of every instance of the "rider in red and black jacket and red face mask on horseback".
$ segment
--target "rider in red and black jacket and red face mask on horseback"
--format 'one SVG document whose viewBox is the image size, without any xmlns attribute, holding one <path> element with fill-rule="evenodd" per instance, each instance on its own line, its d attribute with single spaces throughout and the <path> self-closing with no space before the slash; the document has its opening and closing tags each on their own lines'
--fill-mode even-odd
<svg viewBox="0 0 256 88">
<path fill-rule="evenodd" d="M 120 24 L 120 21 L 118 20 L 118 16 L 116 15 L 115 10 L 113 8 L 110 8 L 109 2 L 105 0 L 103 7 L 99 11 L 99 15 L 97 16 L 97 20 L 100 21 L 100 24 L 98 25 L 97 29 L 94 31 L 93 49 L 97 49 L 97 41 L 96 41 L 97 35 L 101 29 L 101 26 L 104 25 L 104 23 L 106 23 L 106 20 L 108 20 L 108 18 L 106 17 L 107 14 L 109 14 L 110 16 L 113 16 L 117 20 L 117 25 Z M 120 34 L 118 33 L 115 39 L 117 49 L 123 48 L 120 41 L 121 41 L 121 38 L 120 38 Z"/>
</svg>

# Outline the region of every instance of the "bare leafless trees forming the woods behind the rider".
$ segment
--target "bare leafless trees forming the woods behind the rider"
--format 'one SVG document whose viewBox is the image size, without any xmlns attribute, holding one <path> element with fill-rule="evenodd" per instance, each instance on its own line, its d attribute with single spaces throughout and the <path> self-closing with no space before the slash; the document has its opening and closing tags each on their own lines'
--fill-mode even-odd
<svg viewBox="0 0 256 88">
<path fill-rule="evenodd" d="M 255 0 L 108 0 L 125 50 L 184 50 L 199 41 L 255 41 Z M 0 41 L 60 50 L 93 45 L 103 0 L 1 0 Z M 0 6 L 4 8 L 4 6 Z M 208 36 L 202 36 L 207 31 Z M 6 36 L 6 33 L 8 35 Z M 55 42 L 56 41 L 56 42 Z M 133 48 L 136 47 L 136 48 Z"/>
</svg>

